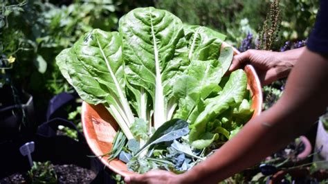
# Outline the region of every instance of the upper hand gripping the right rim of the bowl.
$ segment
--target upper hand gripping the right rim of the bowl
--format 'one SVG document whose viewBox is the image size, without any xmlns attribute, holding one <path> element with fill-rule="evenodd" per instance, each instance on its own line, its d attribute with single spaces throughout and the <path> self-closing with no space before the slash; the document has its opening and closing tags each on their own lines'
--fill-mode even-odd
<svg viewBox="0 0 328 184">
<path fill-rule="evenodd" d="M 233 57 L 229 71 L 235 71 L 245 64 L 254 66 L 262 85 L 271 84 L 275 80 L 287 77 L 302 50 L 295 49 L 284 53 L 267 50 L 247 50 Z"/>
</svg>

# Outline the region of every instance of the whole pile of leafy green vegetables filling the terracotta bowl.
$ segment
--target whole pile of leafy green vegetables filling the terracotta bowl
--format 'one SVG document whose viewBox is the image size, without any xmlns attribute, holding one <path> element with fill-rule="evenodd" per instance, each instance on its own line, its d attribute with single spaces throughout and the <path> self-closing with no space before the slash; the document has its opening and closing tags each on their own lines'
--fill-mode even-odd
<svg viewBox="0 0 328 184">
<path fill-rule="evenodd" d="M 184 25 L 170 12 L 136 8 L 119 32 L 86 33 L 57 64 L 89 104 L 104 104 L 122 132 L 111 159 L 129 169 L 184 172 L 233 136 L 252 116 L 247 77 L 224 77 L 233 49 L 224 35 Z"/>
</svg>

